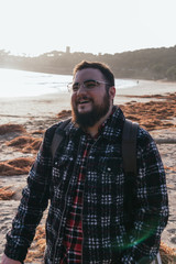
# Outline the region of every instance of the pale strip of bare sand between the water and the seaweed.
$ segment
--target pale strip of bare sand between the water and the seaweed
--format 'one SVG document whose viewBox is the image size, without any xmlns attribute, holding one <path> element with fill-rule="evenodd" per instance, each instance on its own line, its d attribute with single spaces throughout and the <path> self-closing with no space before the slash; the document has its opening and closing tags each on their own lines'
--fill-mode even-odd
<svg viewBox="0 0 176 264">
<path fill-rule="evenodd" d="M 130 101 L 147 102 L 152 99 L 136 98 L 136 96 L 155 96 L 175 91 L 176 82 L 139 80 L 139 85 L 135 87 L 123 89 L 117 87 L 114 105 L 124 105 Z M 69 92 L 56 92 L 36 97 L 0 98 L 0 117 L 36 117 L 38 114 L 50 117 L 63 110 L 70 110 Z M 10 121 L 10 119 L 8 120 Z"/>
</svg>

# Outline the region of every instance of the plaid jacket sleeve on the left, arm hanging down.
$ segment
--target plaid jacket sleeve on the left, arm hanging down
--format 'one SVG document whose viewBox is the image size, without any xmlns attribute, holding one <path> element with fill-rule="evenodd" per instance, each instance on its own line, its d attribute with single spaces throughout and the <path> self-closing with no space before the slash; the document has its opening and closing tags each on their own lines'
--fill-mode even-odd
<svg viewBox="0 0 176 264">
<path fill-rule="evenodd" d="M 12 229 L 7 234 L 4 253 L 12 260 L 21 261 L 26 256 L 37 224 L 50 199 L 50 178 L 52 175 L 51 142 L 54 128 L 46 131 L 36 160 L 30 170 L 28 185 L 22 191 L 18 213 Z"/>
</svg>

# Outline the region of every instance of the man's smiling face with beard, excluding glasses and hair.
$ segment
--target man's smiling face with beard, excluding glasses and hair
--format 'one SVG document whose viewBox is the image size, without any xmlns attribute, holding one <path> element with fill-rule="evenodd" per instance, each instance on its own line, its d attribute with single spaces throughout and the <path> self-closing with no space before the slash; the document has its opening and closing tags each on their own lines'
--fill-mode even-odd
<svg viewBox="0 0 176 264">
<path fill-rule="evenodd" d="M 76 73 L 74 84 L 80 84 L 72 95 L 73 120 L 82 128 L 94 127 L 110 109 L 110 96 L 106 84 L 100 82 L 92 89 L 86 89 L 85 80 L 107 82 L 99 69 L 86 68 Z"/>
</svg>

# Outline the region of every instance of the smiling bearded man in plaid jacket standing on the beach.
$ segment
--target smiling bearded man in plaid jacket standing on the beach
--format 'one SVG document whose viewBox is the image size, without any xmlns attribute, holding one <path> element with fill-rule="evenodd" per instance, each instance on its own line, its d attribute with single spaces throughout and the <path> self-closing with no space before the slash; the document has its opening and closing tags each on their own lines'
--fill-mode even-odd
<svg viewBox="0 0 176 264">
<path fill-rule="evenodd" d="M 157 147 L 140 128 L 129 231 L 121 152 L 124 116 L 113 106 L 113 74 L 105 64 L 82 62 L 75 67 L 69 88 L 72 122 L 54 158 L 51 145 L 61 123 L 45 133 L 1 264 L 23 262 L 48 200 L 45 263 L 151 263 L 168 218 Z"/>
</svg>

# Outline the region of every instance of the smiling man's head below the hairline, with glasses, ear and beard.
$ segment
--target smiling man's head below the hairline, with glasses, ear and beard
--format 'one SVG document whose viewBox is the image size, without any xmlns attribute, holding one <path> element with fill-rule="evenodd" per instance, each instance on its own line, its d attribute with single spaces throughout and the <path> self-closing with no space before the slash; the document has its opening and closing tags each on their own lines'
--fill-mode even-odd
<svg viewBox="0 0 176 264">
<path fill-rule="evenodd" d="M 112 111 L 114 80 L 108 82 L 97 68 L 76 68 L 74 82 L 68 87 L 72 89 L 73 121 L 94 135 Z"/>
</svg>

